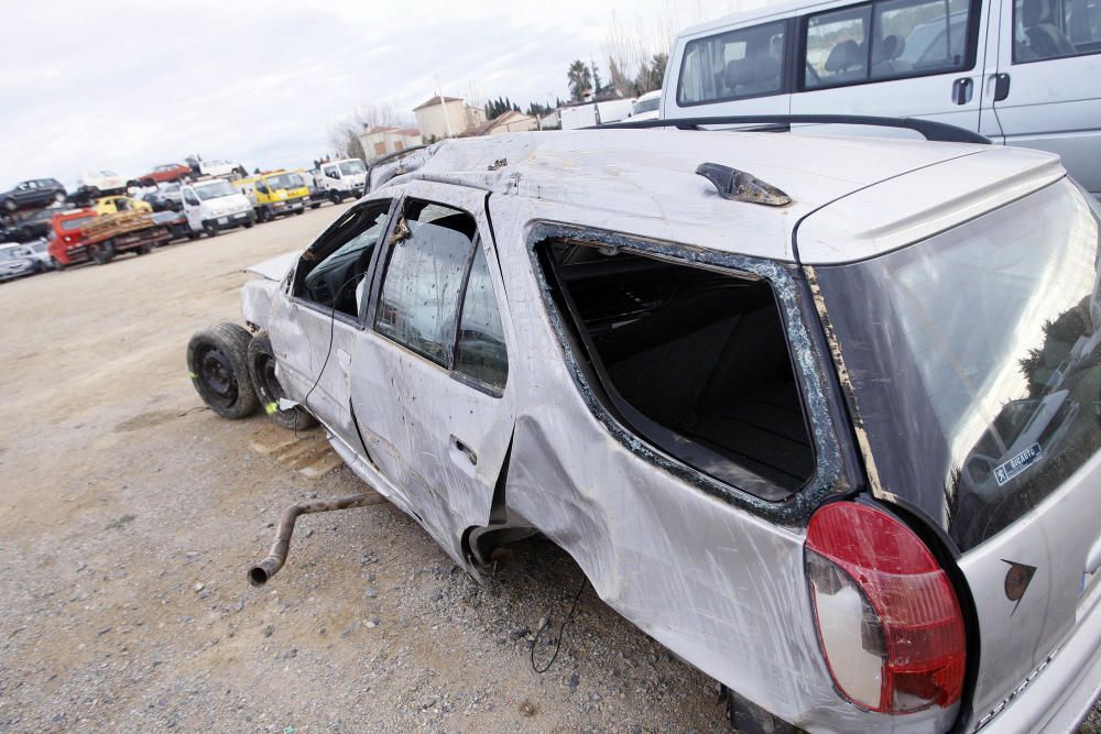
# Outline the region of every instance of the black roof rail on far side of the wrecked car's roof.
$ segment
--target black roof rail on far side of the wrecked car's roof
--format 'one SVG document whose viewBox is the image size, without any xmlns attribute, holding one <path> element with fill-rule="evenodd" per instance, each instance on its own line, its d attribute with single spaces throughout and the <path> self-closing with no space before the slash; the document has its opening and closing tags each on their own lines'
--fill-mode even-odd
<svg viewBox="0 0 1101 734">
<path fill-rule="evenodd" d="M 956 125 L 918 118 L 885 118 L 865 114 L 745 114 L 737 117 L 680 118 L 676 120 L 640 120 L 637 122 L 610 122 L 585 130 L 631 130 L 646 128 L 677 128 L 699 130 L 700 125 L 759 125 L 755 131 L 789 132 L 793 124 L 858 124 L 872 128 L 901 128 L 913 130 L 926 140 L 939 143 L 990 144 L 990 139 Z"/>
</svg>

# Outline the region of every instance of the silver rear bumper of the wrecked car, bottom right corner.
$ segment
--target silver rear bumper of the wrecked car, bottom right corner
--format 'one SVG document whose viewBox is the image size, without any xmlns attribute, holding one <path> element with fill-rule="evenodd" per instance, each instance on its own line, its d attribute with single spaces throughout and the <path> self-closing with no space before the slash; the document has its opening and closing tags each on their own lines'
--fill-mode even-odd
<svg viewBox="0 0 1101 734">
<path fill-rule="evenodd" d="M 1081 602 L 1070 637 L 1017 691 L 995 712 L 977 715 L 967 731 L 1054 734 L 1073 731 L 1087 716 L 1101 693 L 1101 584 Z"/>
</svg>

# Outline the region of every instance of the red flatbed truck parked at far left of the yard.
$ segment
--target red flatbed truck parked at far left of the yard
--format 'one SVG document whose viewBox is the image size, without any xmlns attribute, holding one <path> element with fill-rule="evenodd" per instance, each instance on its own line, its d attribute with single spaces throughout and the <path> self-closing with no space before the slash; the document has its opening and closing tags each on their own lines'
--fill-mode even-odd
<svg viewBox="0 0 1101 734">
<path fill-rule="evenodd" d="M 168 228 L 145 211 L 100 216 L 94 209 L 76 209 L 54 215 L 50 255 L 57 270 L 88 261 L 106 265 L 128 252 L 150 253 L 171 237 Z"/>
</svg>

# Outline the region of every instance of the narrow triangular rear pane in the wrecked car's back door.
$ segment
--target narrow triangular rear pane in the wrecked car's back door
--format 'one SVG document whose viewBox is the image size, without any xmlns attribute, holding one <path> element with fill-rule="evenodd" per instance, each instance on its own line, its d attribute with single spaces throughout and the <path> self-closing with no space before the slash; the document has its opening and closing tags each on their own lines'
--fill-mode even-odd
<svg viewBox="0 0 1101 734">
<path fill-rule="evenodd" d="M 504 347 L 501 313 L 493 295 L 486 251 L 481 247 L 475 251 L 462 297 L 455 370 L 483 383 L 495 394 L 504 391 L 509 380 L 509 354 Z"/>
</svg>

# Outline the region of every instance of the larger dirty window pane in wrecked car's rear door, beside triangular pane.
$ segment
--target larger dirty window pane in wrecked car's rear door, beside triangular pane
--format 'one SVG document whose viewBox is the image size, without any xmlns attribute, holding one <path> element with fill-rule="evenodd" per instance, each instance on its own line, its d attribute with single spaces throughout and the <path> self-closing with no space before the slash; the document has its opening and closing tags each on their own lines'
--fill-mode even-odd
<svg viewBox="0 0 1101 734">
<path fill-rule="evenodd" d="M 375 330 L 451 368 L 459 296 L 477 224 L 458 209 L 412 200 L 394 228 Z"/>
</svg>

